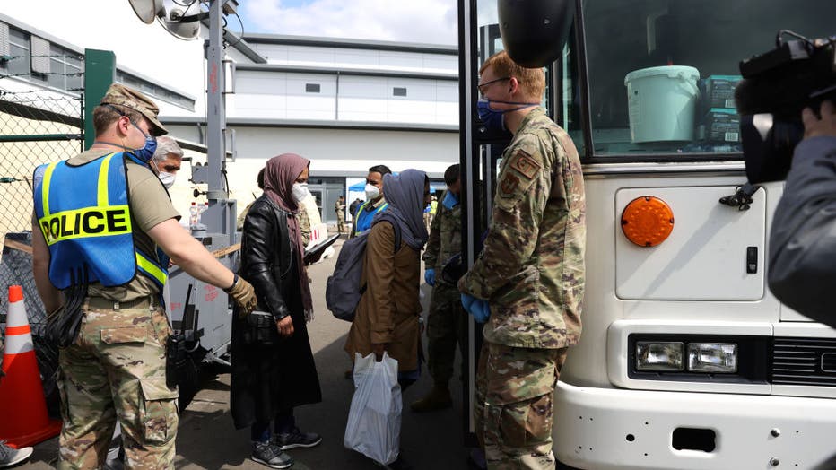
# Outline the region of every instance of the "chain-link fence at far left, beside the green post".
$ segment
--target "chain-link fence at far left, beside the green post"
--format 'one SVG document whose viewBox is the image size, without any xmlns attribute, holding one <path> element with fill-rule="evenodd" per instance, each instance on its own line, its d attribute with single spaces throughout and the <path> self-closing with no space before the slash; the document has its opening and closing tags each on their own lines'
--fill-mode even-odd
<svg viewBox="0 0 836 470">
<path fill-rule="evenodd" d="M 36 350 L 48 353 L 38 347 L 46 315 L 32 277 L 32 172 L 83 150 L 83 89 L 57 91 L 54 77 L 27 75 L 23 80 L 20 74 L 0 74 L 0 324 L 8 311 L 8 286 L 22 285 Z"/>
</svg>

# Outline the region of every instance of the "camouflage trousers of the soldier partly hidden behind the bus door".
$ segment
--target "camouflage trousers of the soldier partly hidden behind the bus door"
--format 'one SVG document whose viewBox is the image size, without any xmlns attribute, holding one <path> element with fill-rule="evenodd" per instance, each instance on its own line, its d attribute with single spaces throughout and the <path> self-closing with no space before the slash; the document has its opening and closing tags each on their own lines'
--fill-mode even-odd
<svg viewBox="0 0 836 470">
<path fill-rule="evenodd" d="M 427 367 L 436 385 L 447 386 L 453 376 L 456 344 L 463 350 L 466 328 L 467 316 L 458 288 L 437 280 L 432 289 L 430 315 L 427 317 L 427 353 L 430 355 Z"/>
</svg>

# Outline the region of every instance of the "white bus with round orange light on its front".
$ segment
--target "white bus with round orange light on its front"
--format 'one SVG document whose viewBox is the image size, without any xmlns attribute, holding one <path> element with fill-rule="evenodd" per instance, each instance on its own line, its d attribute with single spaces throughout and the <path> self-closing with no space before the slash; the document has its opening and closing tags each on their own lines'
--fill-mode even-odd
<svg viewBox="0 0 836 470">
<path fill-rule="evenodd" d="M 775 48 L 779 30 L 836 32 L 836 2 L 565 3 L 570 32 L 546 66 L 544 106 L 584 164 L 588 239 L 555 455 L 584 469 L 814 468 L 836 454 L 836 331 L 767 287 L 783 185 L 745 186 L 734 90 L 738 63 Z M 479 65 L 502 48 L 497 3 L 458 6 L 472 260 L 508 140 L 475 113 Z"/>
</svg>

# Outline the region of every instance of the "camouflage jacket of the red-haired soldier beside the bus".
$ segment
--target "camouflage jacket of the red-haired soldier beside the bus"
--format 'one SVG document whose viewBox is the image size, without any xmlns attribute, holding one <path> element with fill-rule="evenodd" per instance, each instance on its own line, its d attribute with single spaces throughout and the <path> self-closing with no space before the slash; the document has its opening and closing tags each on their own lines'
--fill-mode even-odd
<svg viewBox="0 0 836 470">
<path fill-rule="evenodd" d="M 544 109 L 534 109 L 503 153 L 497 179 L 483 251 L 458 288 L 489 301 L 489 342 L 577 344 L 586 246 L 578 151 Z"/>
</svg>

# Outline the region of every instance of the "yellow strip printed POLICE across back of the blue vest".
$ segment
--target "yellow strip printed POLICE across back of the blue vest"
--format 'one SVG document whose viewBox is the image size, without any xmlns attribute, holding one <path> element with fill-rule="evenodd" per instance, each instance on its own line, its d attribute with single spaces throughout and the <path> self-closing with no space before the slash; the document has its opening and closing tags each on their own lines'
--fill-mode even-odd
<svg viewBox="0 0 836 470">
<path fill-rule="evenodd" d="M 128 205 L 61 211 L 41 217 L 38 223 L 48 245 L 65 239 L 109 237 L 132 231 Z"/>
</svg>

